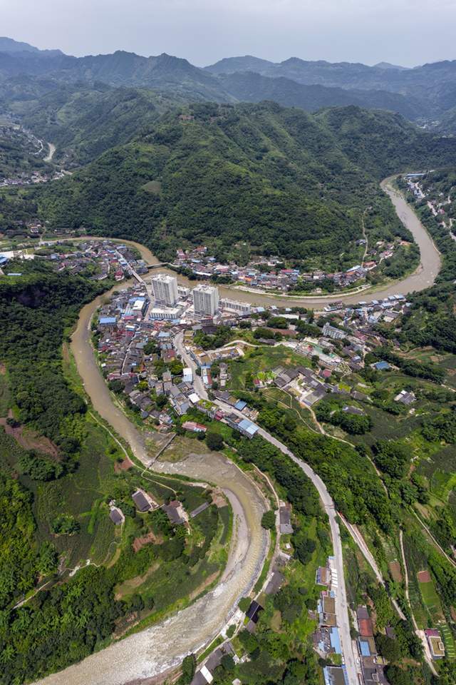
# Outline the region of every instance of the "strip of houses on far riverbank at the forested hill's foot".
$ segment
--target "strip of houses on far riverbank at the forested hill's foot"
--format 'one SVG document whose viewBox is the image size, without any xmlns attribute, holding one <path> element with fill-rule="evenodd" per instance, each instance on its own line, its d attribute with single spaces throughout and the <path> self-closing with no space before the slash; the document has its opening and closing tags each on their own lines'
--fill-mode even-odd
<svg viewBox="0 0 456 685">
<path fill-rule="evenodd" d="M 361 238 L 356 241 L 356 245 L 366 245 L 366 240 Z M 381 261 L 392 257 L 394 250 L 395 243 L 379 240 L 375 248 L 368 250 L 369 259 L 362 264 L 334 273 L 326 273 L 319 269 L 306 273 L 299 268 L 285 268 L 279 257 L 259 256 L 245 266 L 239 266 L 234 262 L 222 264 L 209 254 L 205 245 L 200 245 L 189 250 L 177 250 L 173 266 L 178 269 L 185 268 L 199 279 L 217 280 L 224 277 L 229 282 L 261 290 L 286 292 L 296 288 L 298 283 L 314 283 L 315 288 L 318 288 L 319 284 L 327 280 L 332 281 L 338 288 L 347 288 L 366 278 L 368 272 L 375 269 Z"/>
</svg>

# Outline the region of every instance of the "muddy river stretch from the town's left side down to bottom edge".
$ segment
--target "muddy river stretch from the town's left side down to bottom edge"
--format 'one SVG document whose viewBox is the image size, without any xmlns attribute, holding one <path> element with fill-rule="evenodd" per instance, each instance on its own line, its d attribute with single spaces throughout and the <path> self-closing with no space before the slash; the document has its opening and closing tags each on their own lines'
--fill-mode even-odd
<svg viewBox="0 0 456 685">
<path fill-rule="evenodd" d="M 90 320 L 109 295 L 100 295 L 81 310 L 71 350 L 93 407 L 147 465 L 150 457 L 142 434 L 113 404 L 90 345 Z M 261 516 L 269 507 L 257 485 L 232 462 L 214 453 L 191 454 L 182 462 L 155 462 L 154 470 L 212 482 L 227 494 L 234 512 L 233 536 L 219 583 L 177 614 L 38 681 L 39 685 L 124 685 L 163 674 L 180 664 L 186 654 L 208 644 L 232 616 L 239 598 L 249 594 L 257 581 L 269 547 L 269 534 L 261 527 Z"/>
</svg>

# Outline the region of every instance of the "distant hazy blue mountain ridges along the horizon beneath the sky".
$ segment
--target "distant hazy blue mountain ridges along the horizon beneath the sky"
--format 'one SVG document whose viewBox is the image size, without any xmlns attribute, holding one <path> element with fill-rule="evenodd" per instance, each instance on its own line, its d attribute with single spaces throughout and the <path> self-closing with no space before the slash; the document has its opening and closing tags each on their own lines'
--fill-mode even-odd
<svg viewBox="0 0 456 685">
<path fill-rule="evenodd" d="M 73 57 L 0 39 L 0 93 L 2 84 L 24 76 L 86 86 L 152 88 L 187 102 L 270 99 L 306 111 L 353 104 L 398 112 L 421 123 L 445 122 L 445 113 L 456 107 L 456 61 L 448 60 L 405 68 L 387 62 L 366 66 L 298 57 L 274 63 L 246 55 L 199 68 L 165 53 L 144 57 L 119 50 Z"/>
</svg>

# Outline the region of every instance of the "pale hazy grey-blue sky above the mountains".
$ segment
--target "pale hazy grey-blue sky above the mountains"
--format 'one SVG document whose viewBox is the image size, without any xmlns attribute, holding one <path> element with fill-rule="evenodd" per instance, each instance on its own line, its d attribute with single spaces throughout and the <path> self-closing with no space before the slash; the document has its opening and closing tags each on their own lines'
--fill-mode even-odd
<svg viewBox="0 0 456 685">
<path fill-rule="evenodd" d="M 456 59 L 455 0 L 0 0 L 0 34 L 73 55 Z"/>
</svg>

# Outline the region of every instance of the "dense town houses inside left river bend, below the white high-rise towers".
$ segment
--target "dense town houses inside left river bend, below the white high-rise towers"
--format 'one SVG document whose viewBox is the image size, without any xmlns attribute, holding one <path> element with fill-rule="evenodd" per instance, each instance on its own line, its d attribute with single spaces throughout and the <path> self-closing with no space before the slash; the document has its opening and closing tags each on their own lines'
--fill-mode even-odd
<svg viewBox="0 0 456 685">
<path fill-rule="evenodd" d="M 152 420 L 160 432 L 167 432 L 172 427 L 173 412 L 184 416 L 194 408 L 211 420 L 224 421 L 242 435 L 253 437 L 258 427 L 252 419 L 257 413 L 250 410 L 246 402 L 240 402 L 224 390 L 218 392 L 219 399 L 238 413 L 222 411 L 214 402 L 200 396 L 192 368 L 183 367 L 177 357 L 175 336 L 181 332 L 181 326 L 148 318 L 149 304 L 147 290 L 138 284 L 113 295 L 110 302 L 100 308 L 97 349 L 106 380 L 120 382 L 123 394 L 136 407 L 142 420 Z M 210 367 L 216 361 L 220 363 L 219 375 L 226 384 L 228 371 L 224 360 L 242 355 L 242 350 L 235 347 L 204 352 L 193 344 L 193 333 L 193 330 L 185 330 L 184 344 L 199 368 L 204 387 L 212 387 Z M 152 346 L 147 345 L 150 342 Z M 164 362 L 164 367 L 157 372 L 160 362 Z M 173 367 L 172 362 L 178 363 Z M 217 390 L 214 395 L 218 396 Z M 195 421 L 184 422 L 183 427 L 190 432 L 205 432 L 204 426 Z"/>
</svg>

